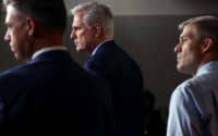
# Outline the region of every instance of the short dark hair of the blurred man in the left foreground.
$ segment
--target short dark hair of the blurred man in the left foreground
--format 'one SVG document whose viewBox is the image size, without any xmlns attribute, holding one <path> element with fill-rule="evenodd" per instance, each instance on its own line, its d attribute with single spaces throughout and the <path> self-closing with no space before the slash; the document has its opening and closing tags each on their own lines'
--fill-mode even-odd
<svg viewBox="0 0 218 136">
<path fill-rule="evenodd" d="M 66 26 L 66 10 L 63 0 L 3 0 L 24 15 L 34 17 L 46 30 L 64 33 Z"/>
</svg>

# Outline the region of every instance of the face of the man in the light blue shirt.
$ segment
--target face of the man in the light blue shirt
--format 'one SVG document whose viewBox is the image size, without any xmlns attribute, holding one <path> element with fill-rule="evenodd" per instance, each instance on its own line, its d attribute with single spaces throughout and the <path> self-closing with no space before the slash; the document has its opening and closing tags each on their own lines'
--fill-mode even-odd
<svg viewBox="0 0 218 136">
<path fill-rule="evenodd" d="M 174 48 L 177 53 L 177 69 L 181 73 L 196 74 L 202 60 L 201 46 L 203 45 L 196 37 L 196 26 L 187 24 L 184 26 L 180 42 Z"/>
</svg>

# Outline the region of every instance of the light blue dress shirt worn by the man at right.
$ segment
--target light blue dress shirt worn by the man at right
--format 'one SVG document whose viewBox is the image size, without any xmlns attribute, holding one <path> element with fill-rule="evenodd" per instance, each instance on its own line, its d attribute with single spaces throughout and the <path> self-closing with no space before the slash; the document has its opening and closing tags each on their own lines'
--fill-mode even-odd
<svg viewBox="0 0 218 136">
<path fill-rule="evenodd" d="M 218 136 L 218 61 L 203 65 L 175 88 L 167 136 Z"/>
</svg>

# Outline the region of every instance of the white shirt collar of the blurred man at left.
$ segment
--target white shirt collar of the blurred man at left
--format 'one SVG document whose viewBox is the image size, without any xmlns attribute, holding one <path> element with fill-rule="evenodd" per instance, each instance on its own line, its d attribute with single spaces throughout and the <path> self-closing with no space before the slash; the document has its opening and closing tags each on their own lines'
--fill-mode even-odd
<svg viewBox="0 0 218 136">
<path fill-rule="evenodd" d="M 66 48 L 63 47 L 63 46 L 56 46 L 56 47 L 46 47 L 46 48 L 43 48 L 43 49 L 36 51 L 33 54 L 32 60 L 34 60 L 36 57 L 38 57 L 39 54 L 41 54 L 44 52 L 53 51 L 53 50 L 66 50 Z"/>
</svg>

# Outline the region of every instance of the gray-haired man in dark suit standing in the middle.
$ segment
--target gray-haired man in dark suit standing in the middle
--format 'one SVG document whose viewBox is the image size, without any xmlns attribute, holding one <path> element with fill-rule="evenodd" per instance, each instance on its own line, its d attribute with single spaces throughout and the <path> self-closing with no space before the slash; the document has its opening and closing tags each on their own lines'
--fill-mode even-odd
<svg viewBox="0 0 218 136">
<path fill-rule="evenodd" d="M 89 55 L 85 70 L 107 81 L 113 90 L 116 135 L 140 136 L 143 132 L 143 77 L 136 62 L 113 40 L 110 9 L 86 2 L 71 12 L 71 38 L 78 52 Z"/>
</svg>

